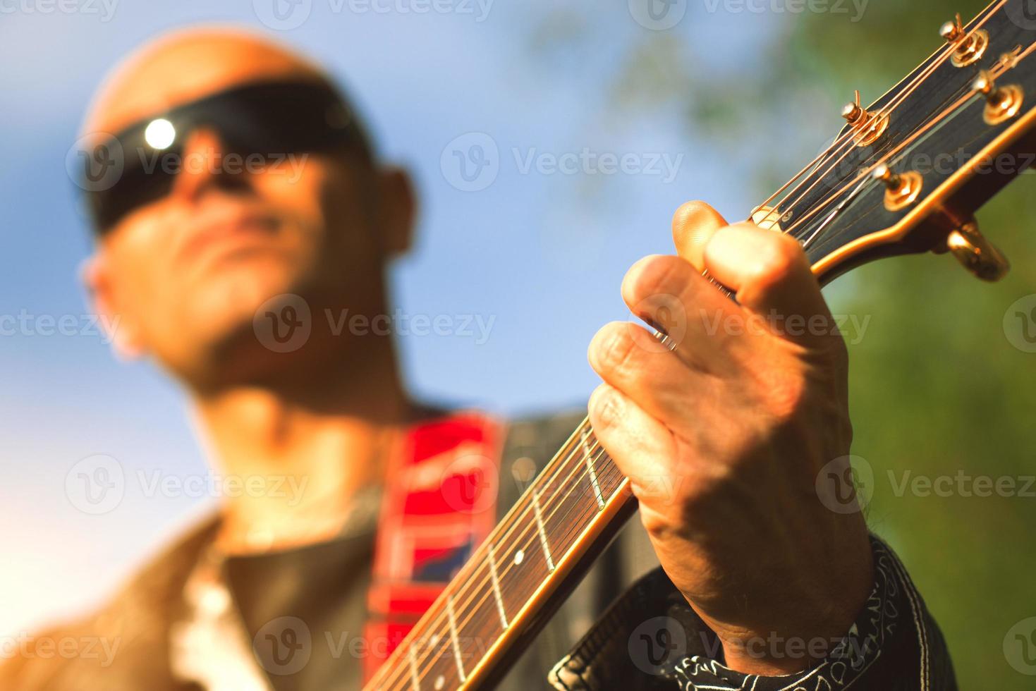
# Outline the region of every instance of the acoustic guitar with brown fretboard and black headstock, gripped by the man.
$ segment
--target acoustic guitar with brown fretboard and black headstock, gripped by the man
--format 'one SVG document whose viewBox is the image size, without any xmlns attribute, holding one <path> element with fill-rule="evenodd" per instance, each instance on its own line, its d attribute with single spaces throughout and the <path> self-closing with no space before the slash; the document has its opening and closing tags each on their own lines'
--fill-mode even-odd
<svg viewBox="0 0 1036 691">
<path fill-rule="evenodd" d="M 858 93 L 834 142 L 750 214 L 794 235 L 822 283 L 906 253 L 951 254 L 983 281 L 1008 269 L 974 212 L 1036 159 L 1036 2 L 997 0 L 940 33 L 884 96 L 865 108 Z M 635 509 L 584 420 L 365 691 L 491 688 Z"/>
</svg>

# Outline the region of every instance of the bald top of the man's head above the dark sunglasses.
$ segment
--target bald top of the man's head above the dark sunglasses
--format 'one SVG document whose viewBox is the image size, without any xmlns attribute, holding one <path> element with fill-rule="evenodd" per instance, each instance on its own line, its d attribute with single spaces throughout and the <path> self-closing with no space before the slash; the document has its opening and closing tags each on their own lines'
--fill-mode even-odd
<svg viewBox="0 0 1036 691">
<path fill-rule="evenodd" d="M 94 96 L 84 132 L 114 133 L 210 93 L 276 79 L 327 81 L 317 65 L 263 36 L 240 29 L 182 29 L 122 61 Z"/>
</svg>

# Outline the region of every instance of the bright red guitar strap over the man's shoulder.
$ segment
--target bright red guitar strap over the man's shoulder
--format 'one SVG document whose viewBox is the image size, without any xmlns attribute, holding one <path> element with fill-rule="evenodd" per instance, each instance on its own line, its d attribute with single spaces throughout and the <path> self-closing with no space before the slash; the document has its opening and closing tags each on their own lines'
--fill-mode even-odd
<svg viewBox="0 0 1036 691">
<path fill-rule="evenodd" d="M 462 412 L 414 425 L 390 460 L 365 636 L 369 680 L 496 524 L 503 425 Z"/>
</svg>

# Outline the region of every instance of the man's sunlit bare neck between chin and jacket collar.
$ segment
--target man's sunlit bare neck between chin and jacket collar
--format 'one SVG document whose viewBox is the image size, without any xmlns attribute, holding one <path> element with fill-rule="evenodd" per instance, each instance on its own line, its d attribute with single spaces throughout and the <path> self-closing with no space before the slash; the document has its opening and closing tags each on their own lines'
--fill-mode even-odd
<svg viewBox="0 0 1036 691">
<path fill-rule="evenodd" d="M 219 542 L 230 551 L 333 537 L 351 498 L 382 483 L 412 419 L 391 348 L 308 369 L 195 398 L 208 455 L 241 488 L 224 505 Z"/>
</svg>

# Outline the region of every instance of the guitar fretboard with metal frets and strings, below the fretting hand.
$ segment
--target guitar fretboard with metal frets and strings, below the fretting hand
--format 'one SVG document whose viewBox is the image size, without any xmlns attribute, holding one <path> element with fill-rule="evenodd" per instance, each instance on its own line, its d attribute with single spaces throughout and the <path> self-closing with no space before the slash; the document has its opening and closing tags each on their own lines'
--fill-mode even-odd
<svg viewBox="0 0 1036 691">
<path fill-rule="evenodd" d="M 365 689 L 453 690 L 501 673 L 507 650 L 536 630 L 634 506 L 584 420 Z"/>
</svg>

